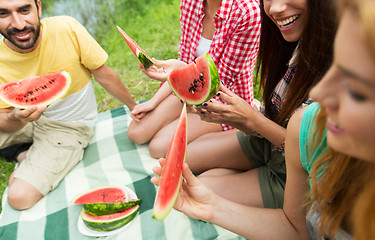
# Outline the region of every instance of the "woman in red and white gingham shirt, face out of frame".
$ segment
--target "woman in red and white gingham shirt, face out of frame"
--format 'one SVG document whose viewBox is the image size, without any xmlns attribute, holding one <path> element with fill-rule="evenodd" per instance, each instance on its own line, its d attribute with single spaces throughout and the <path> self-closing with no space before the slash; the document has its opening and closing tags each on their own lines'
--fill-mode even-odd
<svg viewBox="0 0 375 240">
<path fill-rule="evenodd" d="M 180 8 L 179 60 L 155 60 L 160 68 L 153 66 L 143 72 L 153 79 L 165 81 L 173 69 L 209 52 L 224 85 L 252 105 L 252 72 L 260 37 L 258 0 L 182 0 Z M 137 105 L 132 111 L 129 139 L 139 144 L 150 141 L 151 156 L 165 156 L 181 107 L 169 85 L 163 84 L 151 100 Z M 194 114 L 188 114 L 188 118 L 189 142 L 207 133 L 231 129 L 224 124 L 201 121 Z"/>
</svg>

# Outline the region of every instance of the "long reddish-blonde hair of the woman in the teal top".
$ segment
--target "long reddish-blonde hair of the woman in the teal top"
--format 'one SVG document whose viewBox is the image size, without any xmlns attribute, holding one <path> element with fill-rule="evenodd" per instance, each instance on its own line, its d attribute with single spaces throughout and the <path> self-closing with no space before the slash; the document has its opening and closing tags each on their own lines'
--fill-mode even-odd
<svg viewBox="0 0 375 240">
<path fill-rule="evenodd" d="M 340 12 L 351 11 L 364 28 L 366 47 L 375 59 L 375 0 L 341 0 Z M 321 142 L 324 109 L 316 117 L 311 154 Z M 342 227 L 356 240 L 375 239 L 375 163 L 328 151 L 311 169 L 307 205 L 320 215 L 319 233 L 332 237 Z M 317 203 L 317 205 L 313 205 Z M 314 206 L 314 207 L 312 207 Z"/>
</svg>

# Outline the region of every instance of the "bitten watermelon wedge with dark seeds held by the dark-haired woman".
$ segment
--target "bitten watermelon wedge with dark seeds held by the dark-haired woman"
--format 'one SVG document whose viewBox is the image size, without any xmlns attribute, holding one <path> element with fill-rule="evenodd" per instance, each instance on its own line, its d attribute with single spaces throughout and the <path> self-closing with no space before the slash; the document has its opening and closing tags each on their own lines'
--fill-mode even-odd
<svg viewBox="0 0 375 240">
<path fill-rule="evenodd" d="M 169 74 L 169 86 L 189 105 L 199 105 L 213 97 L 220 88 L 219 72 L 209 53 L 184 68 Z"/>
</svg>

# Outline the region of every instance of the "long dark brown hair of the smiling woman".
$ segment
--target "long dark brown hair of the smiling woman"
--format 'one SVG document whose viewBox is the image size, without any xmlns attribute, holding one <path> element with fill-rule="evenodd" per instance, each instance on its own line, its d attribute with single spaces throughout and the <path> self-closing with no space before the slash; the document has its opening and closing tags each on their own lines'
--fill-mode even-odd
<svg viewBox="0 0 375 240">
<path fill-rule="evenodd" d="M 262 28 L 256 79 L 260 76 L 265 114 L 286 126 L 286 120 L 308 99 L 310 89 L 322 78 L 333 59 L 333 41 L 336 33 L 335 8 L 331 1 L 307 0 L 308 22 L 299 41 L 297 70 L 288 85 L 280 112 L 271 103 L 276 85 L 288 68 L 297 42 L 284 40 L 279 28 L 266 15 L 261 1 Z"/>
</svg>

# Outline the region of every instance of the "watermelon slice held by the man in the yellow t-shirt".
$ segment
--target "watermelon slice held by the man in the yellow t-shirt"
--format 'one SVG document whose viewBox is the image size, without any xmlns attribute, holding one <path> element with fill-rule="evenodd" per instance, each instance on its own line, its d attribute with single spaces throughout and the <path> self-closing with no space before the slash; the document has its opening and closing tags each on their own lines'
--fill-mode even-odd
<svg viewBox="0 0 375 240">
<path fill-rule="evenodd" d="M 0 85 L 0 98 L 10 106 L 48 106 L 63 97 L 71 83 L 69 73 L 57 72 Z"/>
</svg>

